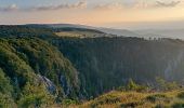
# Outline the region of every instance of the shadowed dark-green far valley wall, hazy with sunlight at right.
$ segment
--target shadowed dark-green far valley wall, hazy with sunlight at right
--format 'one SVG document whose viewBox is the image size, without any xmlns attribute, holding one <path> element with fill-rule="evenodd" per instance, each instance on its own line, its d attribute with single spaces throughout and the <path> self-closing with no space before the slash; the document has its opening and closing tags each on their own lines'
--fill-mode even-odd
<svg viewBox="0 0 184 108">
<path fill-rule="evenodd" d="M 184 42 L 140 38 L 62 38 L 53 43 L 79 70 L 88 96 L 124 85 L 130 78 L 154 86 L 160 77 L 183 81 Z"/>
</svg>

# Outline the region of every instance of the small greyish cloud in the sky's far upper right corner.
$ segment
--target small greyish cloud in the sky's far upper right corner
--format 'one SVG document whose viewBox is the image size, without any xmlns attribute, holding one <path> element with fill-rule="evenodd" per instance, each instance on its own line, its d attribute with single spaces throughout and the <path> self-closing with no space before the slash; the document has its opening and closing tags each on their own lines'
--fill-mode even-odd
<svg viewBox="0 0 184 108">
<path fill-rule="evenodd" d="M 171 1 L 171 2 L 161 2 L 161 1 L 156 1 L 156 6 L 158 8 L 173 8 L 176 6 L 178 4 L 181 3 L 181 1 Z"/>
</svg>

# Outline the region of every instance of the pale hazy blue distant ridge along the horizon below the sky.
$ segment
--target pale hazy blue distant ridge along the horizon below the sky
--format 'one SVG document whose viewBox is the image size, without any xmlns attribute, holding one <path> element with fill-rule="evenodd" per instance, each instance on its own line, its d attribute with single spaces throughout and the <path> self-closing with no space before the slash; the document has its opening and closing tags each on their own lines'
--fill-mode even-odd
<svg viewBox="0 0 184 108">
<path fill-rule="evenodd" d="M 77 24 L 43 24 L 43 25 L 37 25 L 37 26 L 40 26 L 40 27 L 45 26 L 45 27 L 52 27 L 52 28 L 69 27 L 69 28 L 95 29 L 95 30 L 100 30 L 105 33 L 124 36 L 124 37 L 184 39 L 184 29 L 128 30 L 128 29 L 115 29 L 115 28 L 105 28 L 105 27 L 92 27 L 92 26 L 77 25 Z"/>
</svg>

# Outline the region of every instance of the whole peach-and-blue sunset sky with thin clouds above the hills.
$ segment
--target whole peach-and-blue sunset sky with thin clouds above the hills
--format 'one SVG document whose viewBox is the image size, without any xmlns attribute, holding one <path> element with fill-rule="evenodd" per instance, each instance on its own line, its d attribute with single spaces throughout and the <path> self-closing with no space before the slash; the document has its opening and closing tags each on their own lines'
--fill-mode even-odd
<svg viewBox="0 0 184 108">
<path fill-rule="evenodd" d="M 184 0 L 0 0 L 0 25 L 184 28 Z"/>
</svg>

